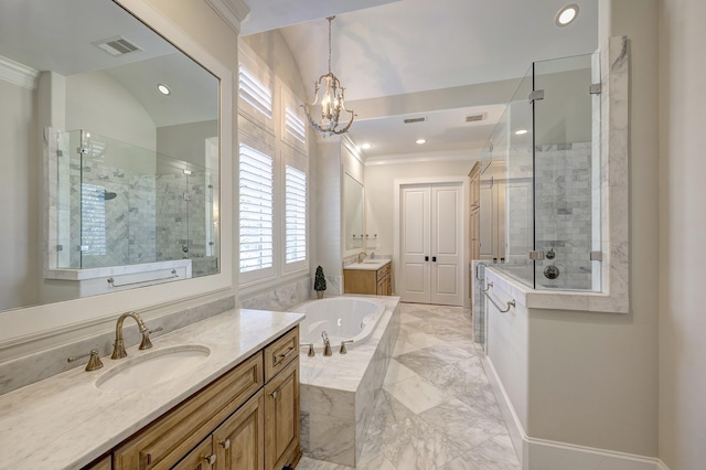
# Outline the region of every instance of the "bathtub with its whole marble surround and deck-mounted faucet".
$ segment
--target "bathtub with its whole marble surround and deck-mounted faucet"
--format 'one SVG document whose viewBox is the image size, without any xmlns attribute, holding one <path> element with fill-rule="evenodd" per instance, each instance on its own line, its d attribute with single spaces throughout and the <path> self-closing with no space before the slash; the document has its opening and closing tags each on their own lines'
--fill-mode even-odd
<svg viewBox="0 0 706 470">
<path fill-rule="evenodd" d="M 375 399 L 399 334 L 399 298 L 342 296 L 301 303 L 290 311 L 307 316 L 299 325 L 300 343 L 313 343 L 299 354 L 300 438 L 304 456 L 355 467 Z M 321 332 L 333 354 L 324 356 Z M 343 340 L 353 340 L 341 354 Z"/>
</svg>

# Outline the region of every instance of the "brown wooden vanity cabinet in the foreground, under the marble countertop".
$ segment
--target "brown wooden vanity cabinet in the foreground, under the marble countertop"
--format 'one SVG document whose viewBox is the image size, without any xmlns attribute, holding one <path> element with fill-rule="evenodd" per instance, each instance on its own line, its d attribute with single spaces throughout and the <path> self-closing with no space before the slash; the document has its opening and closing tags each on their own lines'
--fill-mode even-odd
<svg viewBox="0 0 706 470">
<path fill-rule="evenodd" d="M 115 448 L 113 469 L 281 469 L 299 439 L 296 327 Z"/>
</svg>

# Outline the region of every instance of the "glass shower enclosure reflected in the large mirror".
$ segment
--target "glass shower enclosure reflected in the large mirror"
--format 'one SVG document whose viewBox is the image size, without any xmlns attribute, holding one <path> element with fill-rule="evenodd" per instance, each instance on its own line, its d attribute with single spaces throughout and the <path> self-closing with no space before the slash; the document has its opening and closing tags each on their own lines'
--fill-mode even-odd
<svg viewBox="0 0 706 470">
<path fill-rule="evenodd" d="M 94 135 L 60 132 L 57 268 L 192 259 L 218 271 L 217 174 Z"/>
</svg>

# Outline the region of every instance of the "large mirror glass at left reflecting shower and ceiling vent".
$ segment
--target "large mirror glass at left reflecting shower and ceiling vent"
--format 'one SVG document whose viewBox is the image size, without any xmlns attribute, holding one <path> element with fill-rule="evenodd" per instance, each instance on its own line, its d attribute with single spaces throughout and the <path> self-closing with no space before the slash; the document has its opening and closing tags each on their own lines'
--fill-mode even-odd
<svg viewBox="0 0 706 470">
<path fill-rule="evenodd" d="M 220 271 L 207 70 L 110 0 L 0 0 L 0 310 Z"/>
</svg>

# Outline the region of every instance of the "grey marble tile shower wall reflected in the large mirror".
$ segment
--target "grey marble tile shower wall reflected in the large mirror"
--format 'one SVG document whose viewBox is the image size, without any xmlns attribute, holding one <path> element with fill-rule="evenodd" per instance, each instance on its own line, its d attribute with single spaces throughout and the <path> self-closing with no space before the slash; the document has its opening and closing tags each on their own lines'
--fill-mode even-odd
<svg viewBox="0 0 706 470">
<path fill-rule="evenodd" d="M 61 170 L 60 170 L 61 171 Z M 217 258 L 207 255 L 206 174 L 153 175 L 106 164 L 100 159 L 82 163 L 72 158 L 68 226 L 71 267 L 94 268 L 169 259 L 199 259 L 193 276 L 218 271 Z M 82 214 L 81 191 L 99 201 L 98 212 Z M 105 199 L 103 193 L 115 193 Z M 105 202 L 104 202 L 105 201 Z M 105 247 L 82 241 L 82 217 L 104 217 Z M 83 258 L 83 259 L 82 259 Z"/>
</svg>

